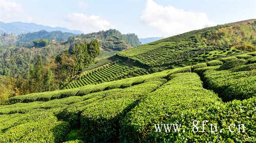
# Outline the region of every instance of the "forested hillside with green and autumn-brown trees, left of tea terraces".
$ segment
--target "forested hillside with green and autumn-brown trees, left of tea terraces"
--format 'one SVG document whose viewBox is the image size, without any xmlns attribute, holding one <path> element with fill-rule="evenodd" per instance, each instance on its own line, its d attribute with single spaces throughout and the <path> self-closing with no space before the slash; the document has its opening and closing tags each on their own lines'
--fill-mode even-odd
<svg viewBox="0 0 256 143">
<path fill-rule="evenodd" d="M 98 61 L 114 55 L 121 49 L 131 48 L 129 43 L 136 44 L 136 41 L 137 44 L 139 43 L 135 34 L 121 34 L 116 30 L 97 34 L 95 34 L 96 37 L 103 37 L 98 37 L 98 39 L 93 37 L 94 34 L 74 35 L 45 30 L 21 35 L 1 34 L 0 86 L 1 90 L 6 92 L 0 93 L 3 98 L 0 99 L 0 102 L 12 96 L 61 89 L 72 80 L 74 74 L 81 71 L 81 68 L 93 66 L 95 62 L 98 64 L 100 63 Z M 80 39 L 80 37 L 86 37 L 86 39 Z M 103 40 L 103 38 L 105 39 Z M 92 53 L 92 47 L 95 45 L 89 43 L 95 39 L 99 40 L 96 43 L 104 43 L 100 43 L 103 47 L 99 45 L 101 51 Z M 86 56 L 78 53 L 79 50 L 76 50 L 76 53 L 72 52 L 74 47 L 84 47 L 84 45 L 87 45 L 84 49 L 87 52 L 83 51 L 82 53 L 88 53 Z M 116 48 L 113 49 L 112 46 Z M 41 62 L 38 67 L 36 61 L 39 55 Z M 94 55 L 94 57 L 92 58 L 90 55 Z M 84 59 L 87 60 L 84 61 Z M 39 70 L 39 78 L 44 80 L 43 82 L 36 82 L 34 79 L 38 77 L 37 70 Z M 51 87 L 43 85 L 45 82 Z M 35 88 L 35 84 L 38 83 L 40 85 Z"/>
</svg>

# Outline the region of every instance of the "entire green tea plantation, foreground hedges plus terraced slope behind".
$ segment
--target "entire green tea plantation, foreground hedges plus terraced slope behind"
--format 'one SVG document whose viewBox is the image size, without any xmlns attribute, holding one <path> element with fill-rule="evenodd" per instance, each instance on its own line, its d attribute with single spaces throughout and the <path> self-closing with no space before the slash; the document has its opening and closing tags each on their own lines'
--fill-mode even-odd
<svg viewBox="0 0 256 143">
<path fill-rule="evenodd" d="M 0 105 L 0 142 L 256 142 L 256 52 L 232 43 L 241 40 L 238 31 L 227 40 L 230 28 L 122 51 L 62 90 L 9 98 Z"/>
</svg>

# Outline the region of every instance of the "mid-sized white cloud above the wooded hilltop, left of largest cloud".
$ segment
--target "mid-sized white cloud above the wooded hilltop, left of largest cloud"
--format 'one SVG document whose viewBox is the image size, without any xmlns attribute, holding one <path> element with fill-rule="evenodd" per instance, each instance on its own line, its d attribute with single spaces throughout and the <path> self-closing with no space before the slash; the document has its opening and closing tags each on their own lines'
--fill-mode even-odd
<svg viewBox="0 0 256 143">
<path fill-rule="evenodd" d="M 97 15 L 87 16 L 81 13 L 72 13 L 66 20 L 70 28 L 81 30 L 83 33 L 98 32 L 113 28 L 112 24 Z"/>
</svg>

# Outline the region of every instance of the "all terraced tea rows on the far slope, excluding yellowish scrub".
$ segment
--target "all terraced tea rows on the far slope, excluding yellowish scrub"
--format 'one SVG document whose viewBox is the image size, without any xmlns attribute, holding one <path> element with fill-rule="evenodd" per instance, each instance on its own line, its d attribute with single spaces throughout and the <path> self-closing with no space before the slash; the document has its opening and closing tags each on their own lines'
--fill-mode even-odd
<svg viewBox="0 0 256 143">
<path fill-rule="evenodd" d="M 251 25 L 251 23 L 247 24 Z M 206 40 L 210 35 L 214 36 L 216 31 L 232 26 L 233 25 L 225 24 L 208 27 L 121 51 L 116 53 L 116 55 L 112 56 L 110 59 L 112 59 L 112 61 L 119 61 L 119 64 L 122 66 L 132 65 L 131 68 L 133 69 L 127 69 L 127 72 L 123 72 L 122 69 L 118 69 L 111 65 L 106 66 L 109 67 L 106 68 L 107 71 L 90 68 L 88 74 L 79 74 L 78 77 L 83 77 L 76 78 L 73 83 L 70 83 L 65 88 L 71 89 L 80 87 L 81 85 L 97 84 L 139 76 L 146 74 L 147 72 L 154 73 L 166 69 L 191 66 L 202 62 L 247 53 L 247 51 L 244 50 L 234 49 L 233 46 L 227 42 L 221 41 L 220 43 L 212 44 Z M 222 36 L 223 35 L 221 34 L 216 35 L 213 41 L 223 38 Z M 95 70 L 95 73 L 91 72 L 91 70 Z M 120 73 L 115 70 L 120 70 Z M 85 71 L 83 73 L 87 72 Z"/>
</svg>

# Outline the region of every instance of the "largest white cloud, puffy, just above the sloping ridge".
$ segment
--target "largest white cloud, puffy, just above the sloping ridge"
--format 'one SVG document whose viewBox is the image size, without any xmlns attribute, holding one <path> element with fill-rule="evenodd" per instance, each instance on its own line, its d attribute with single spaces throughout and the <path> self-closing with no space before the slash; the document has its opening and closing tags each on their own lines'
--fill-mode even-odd
<svg viewBox="0 0 256 143">
<path fill-rule="evenodd" d="M 205 13 L 161 6 L 153 0 L 147 0 L 146 8 L 140 18 L 146 24 L 160 30 L 165 36 L 200 29 L 205 25 L 214 25 Z"/>
</svg>

